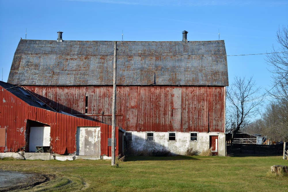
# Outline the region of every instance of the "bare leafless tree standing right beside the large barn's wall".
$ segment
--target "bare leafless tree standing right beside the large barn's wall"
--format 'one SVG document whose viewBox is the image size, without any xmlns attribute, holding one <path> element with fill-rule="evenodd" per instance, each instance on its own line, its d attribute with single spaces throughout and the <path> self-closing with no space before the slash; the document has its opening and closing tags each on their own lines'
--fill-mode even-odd
<svg viewBox="0 0 288 192">
<path fill-rule="evenodd" d="M 233 133 L 232 140 L 259 114 L 263 103 L 263 96 L 258 96 L 259 91 L 252 77 L 235 77 L 234 83 L 227 88 L 226 132 Z"/>
</svg>

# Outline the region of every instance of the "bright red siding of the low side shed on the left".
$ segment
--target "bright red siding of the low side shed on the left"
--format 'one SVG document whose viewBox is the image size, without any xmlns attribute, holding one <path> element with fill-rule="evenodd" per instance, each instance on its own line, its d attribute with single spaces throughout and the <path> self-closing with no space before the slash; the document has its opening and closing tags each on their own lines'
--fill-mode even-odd
<svg viewBox="0 0 288 192">
<path fill-rule="evenodd" d="M 77 127 L 100 127 L 101 155 L 111 156 L 111 147 L 108 147 L 108 138 L 111 138 L 111 125 L 30 106 L 2 89 L 1 86 L 0 88 L 0 129 L 6 129 L 7 135 L 6 147 L 0 147 L 1 153 L 25 150 L 26 124 L 27 120 L 32 120 L 50 126 L 52 151 L 58 154 L 76 151 Z M 116 145 L 115 154 L 118 154 L 119 147 L 121 148 L 120 153 L 122 153 L 122 144 L 120 146 L 122 136 L 123 134 L 119 135 L 118 127 L 116 127 L 115 138 L 119 142 Z"/>
</svg>

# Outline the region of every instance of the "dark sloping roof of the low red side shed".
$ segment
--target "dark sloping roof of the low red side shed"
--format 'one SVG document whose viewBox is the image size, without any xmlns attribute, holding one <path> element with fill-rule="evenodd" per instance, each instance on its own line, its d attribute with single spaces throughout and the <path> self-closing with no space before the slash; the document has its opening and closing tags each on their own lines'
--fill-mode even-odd
<svg viewBox="0 0 288 192">
<path fill-rule="evenodd" d="M 10 93 L 12 93 L 13 95 L 15 95 L 16 97 L 20 98 L 24 102 L 26 102 L 30 106 L 55 111 L 53 108 L 49 107 L 48 105 L 46 105 L 46 103 L 44 103 L 39 98 L 34 96 L 30 91 L 20 86 L 15 86 L 10 83 L 5 83 L 3 81 L 0 81 L 0 86 L 9 91 Z"/>
</svg>

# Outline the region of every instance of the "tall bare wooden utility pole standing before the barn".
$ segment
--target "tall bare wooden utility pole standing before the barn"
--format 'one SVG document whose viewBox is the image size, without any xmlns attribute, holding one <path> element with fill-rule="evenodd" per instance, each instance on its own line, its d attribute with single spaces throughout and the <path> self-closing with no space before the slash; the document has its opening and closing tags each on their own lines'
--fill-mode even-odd
<svg viewBox="0 0 288 192">
<path fill-rule="evenodd" d="M 116 51 L 117 43 L 114 41 L 114 60 L 113 60 L 113 99 L 112 99 L 112 136 L 111 136 L 111 165 L 115 166 L 115 114 L 116 114 Z"/>
</svg>

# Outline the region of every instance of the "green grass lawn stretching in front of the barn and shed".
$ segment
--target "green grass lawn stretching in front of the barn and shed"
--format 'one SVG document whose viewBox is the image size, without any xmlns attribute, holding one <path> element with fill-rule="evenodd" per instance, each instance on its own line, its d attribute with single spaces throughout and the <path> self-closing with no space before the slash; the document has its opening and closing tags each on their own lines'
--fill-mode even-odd
<svg viewBox="0 0 288 192">
<path fill-rule="evenodd" d="M 0 170 L 33 172 L 54 179 L 19 191 L 288 191 L 288 166 L 273 157 L 130 157 L 110 160 L 0 160 Z"/>
</svg>

